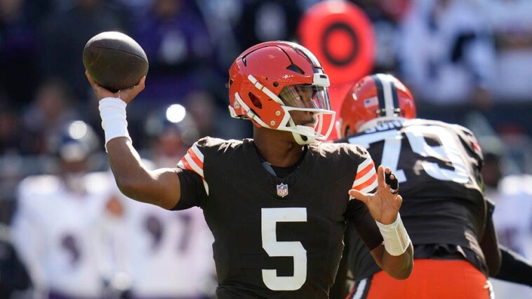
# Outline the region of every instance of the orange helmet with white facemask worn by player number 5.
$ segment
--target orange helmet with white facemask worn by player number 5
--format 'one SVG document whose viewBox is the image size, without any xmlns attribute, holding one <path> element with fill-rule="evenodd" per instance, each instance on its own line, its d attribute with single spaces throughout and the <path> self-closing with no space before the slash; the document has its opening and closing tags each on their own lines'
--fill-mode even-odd
<svg viewBox="0 0 532 299">
<path fill-rule="evenodd" d="M 258 127 L 292 132 L 301 145 L 326 140 L 335 116 L 328 86 L 327 74 L 307 48 L 267 41 L 248 48 L 230 67 L 230 114 Z M 295 124 L 291 111 L 312 112 L 314 127 Z"/>
</svg>

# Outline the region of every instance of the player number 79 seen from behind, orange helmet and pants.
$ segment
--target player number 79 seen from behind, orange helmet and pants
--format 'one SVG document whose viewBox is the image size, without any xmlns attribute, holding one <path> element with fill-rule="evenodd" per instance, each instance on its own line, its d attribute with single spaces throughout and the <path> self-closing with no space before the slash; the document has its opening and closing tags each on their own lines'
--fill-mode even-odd
<svg viewBox="0 0 532 299">
<path fill-rule="evenodd" d="M 498 274 L 501 253 L 493 204 L 482 190 L 479 143 L 463 126 L 415 117 L 410 91 L 390 74 L 366 76 L 345 96 L 337 142 L 366 147 L 396 175 L 415 263 L 405 281 L 390 279 L 348 231 L 345 260 L 356 282 L 348 298 L 490 298 L 487 277 Z M 509 251 L 503 266 L 532 277 L 530 265 Z"/>
</svg>

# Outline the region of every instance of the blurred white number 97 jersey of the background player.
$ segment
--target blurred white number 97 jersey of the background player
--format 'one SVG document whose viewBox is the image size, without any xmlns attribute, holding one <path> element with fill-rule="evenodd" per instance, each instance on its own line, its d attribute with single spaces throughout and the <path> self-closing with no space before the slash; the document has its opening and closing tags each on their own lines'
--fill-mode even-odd
<svg viewBox="0 0 532 299">
<path fill-rule="evenodd" d="M 167 138 L 167 133 L 161 131 L 160 138 Z M 150 169 L 157 166 L 142 161 Z M 124 206 L 119 233 L 126 244 L 121 255 L 126 255 L 131 298 L 212 298 L 213 235 L 201 209 L 168 211 L 124 197 L 116 185 L 114 194 Z"/>
</svg>

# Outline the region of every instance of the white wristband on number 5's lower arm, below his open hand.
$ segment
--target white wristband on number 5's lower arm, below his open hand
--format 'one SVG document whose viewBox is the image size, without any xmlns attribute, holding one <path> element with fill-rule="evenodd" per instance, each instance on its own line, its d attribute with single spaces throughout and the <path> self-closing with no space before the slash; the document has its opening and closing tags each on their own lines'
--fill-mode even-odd
<svg viewBox="0 0 532 299">
<path fill-rule="evenodd" d="M 397 219 L 389 225 L 383 225 L 383 223 L 378 221 L 375 222 L 377 222 L 380 234 L 383 235 L 386 251 L 394 256 L 403 254 L 411 241 L 410 237 L 408 237 L 408 232 L 404 228 L 401 215 L 397 213 Z"/>
</svg>

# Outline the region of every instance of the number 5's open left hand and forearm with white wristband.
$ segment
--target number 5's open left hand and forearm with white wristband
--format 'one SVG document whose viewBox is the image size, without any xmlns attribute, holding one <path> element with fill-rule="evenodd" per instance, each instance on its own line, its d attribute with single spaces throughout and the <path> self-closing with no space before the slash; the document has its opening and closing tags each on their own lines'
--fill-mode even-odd
<svg viewBox="0 0 532 299">
<path fill-rule="evenodd" d="M 385 180 L 385 174 L 391 180 Z M 397 194 L 397 178 L 391 174 L 390 168 L 379 166 L 377 182 L 377 192 L 373 194 L 356 189 L 350 190 L 349 194 L 366 204 L 383 235 L 383 244 L 371 250 L 375 263 L 391 277 L 406 279 L 413 269 L 413 246 L 399 215 L 403 199 Z"/>
</svg>

